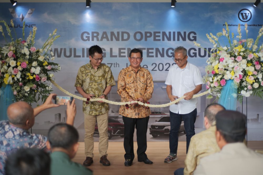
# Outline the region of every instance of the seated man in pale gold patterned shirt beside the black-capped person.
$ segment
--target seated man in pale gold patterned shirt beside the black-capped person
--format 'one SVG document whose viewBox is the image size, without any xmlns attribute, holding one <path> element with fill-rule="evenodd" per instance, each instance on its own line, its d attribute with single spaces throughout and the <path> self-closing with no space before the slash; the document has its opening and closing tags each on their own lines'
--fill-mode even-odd
<svg viewBox="0 0 263 175">
<path fill-rule="evenodd" d="M 185 168 L 177 169 L 175 175 L 189 175 L 193 174 L 196 166 L 199 164 L 200 158 L 220 151 L 215 140 L 215 115 L 225 108 L 213 103 L 206 107 L 204 125 L 206 130 L 195 134 L 190 141 L 188 153 L 185 158 Z"/>
</svg>

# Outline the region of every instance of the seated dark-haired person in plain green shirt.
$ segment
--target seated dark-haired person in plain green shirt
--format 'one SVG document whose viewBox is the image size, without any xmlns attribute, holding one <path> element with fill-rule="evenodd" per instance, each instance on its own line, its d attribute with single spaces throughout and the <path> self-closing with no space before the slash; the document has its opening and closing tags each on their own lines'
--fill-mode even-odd
<svg viewBox="0 0 263 175">
<path fill-rule="evenodd" d="M 52 150 L 51 175 L 89 175 L 92 171 L 72 162 L 78 151 L 78 131 L 71 125 L 59 123 L 48 131 L 47 148 Z"/>
</svg>

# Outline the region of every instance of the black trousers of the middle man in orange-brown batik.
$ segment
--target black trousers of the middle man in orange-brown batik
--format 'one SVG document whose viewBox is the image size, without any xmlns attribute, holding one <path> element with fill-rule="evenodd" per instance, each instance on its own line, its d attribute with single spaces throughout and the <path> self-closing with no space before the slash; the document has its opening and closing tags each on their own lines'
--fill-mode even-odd
<svg viewBox="0 0 263 175">
<path fill-rule="evenodd" d="M 148 121 L 149 116 L 145 118 L 129 118 L 122 116 L 124 122 L 124 150 L 125 160 L 134 159 L 134 151 L 133 151 L 133 134 L 134 134 L 134 127 L 136 127 L 136 136 L 137 136 L 137 156 L 138 161 L 143 161 L 147 159 L 147 155 L 145 151 L 147 149 L 147 139 L 146 133 L 148 128 Z"/>
</svg>

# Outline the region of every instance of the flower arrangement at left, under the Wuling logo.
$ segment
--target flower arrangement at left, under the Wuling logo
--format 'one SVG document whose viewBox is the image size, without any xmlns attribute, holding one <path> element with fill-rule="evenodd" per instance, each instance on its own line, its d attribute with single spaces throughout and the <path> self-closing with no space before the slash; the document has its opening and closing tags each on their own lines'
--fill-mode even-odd
<svg viewBox="0 0 263 175">
<path fill-rule="evenodd" d="M 29 36 L 25 40 L 24 22 L 22 29 L 23 39 L 17 39 L 16 31 L 14 30 L 16 36 L 14 40 L 10 30 L 10 28 L 14 29 L 13 21 L 11 20 L 10 28 L 5 21 L 0 22 L 4 23 L 7 34 L 11 38 L 11 42 L 8 42 L 3 27 L 0 25 L 0 32 L 7 43 L 0 47 L 0 88 L 10 84 L 17 101 L 23 100 L 32 103 L 42 99 L 43 102 L 52 91 L 52 86 L 48 83 L 53 77 L 52 72 L 60 70 L 59 64 L 50 61 L 54 60 L 55 57 L 49 51 L 53 42 L 60 37 L 56 35 L 57 29 L 53 31 L 53 34 L 49 34 L 41 49 L 36 49 L 34 47 L 36 26 L 33 27 L 33 32 L 30 31 Z"/>
</svg>

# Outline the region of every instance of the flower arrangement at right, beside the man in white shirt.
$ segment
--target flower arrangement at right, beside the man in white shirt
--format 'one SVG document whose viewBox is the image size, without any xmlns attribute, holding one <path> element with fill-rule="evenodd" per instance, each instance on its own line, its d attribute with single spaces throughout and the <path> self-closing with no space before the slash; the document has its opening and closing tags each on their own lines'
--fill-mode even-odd
<svg viewBox="0 0 263 175">
<path fill-rule="evenodd" d="M 238 40 L 235 40 L 234 33 L 230 34 L 228 25 L 225 24 L 226 29 L 223 28 L 223 31 L 216 36 L 212 33 L 206 34 L 210 43 L 214 45 L 210 58 L 206 61 L 208 65 L 205 67 L 206 75 L 203 77 L 206 89 L 210 91 L 208 98 L 212 98 L 212 95 L 220 97 L 221 89 L 229 79 L 233 80 L 237 88 L 239 100 L 242 100 L 242 96 L 249 97 L 251 94 L 263 98 L 263 44 L 257 46 L 263 34 L 263 27 L 259 30 L 259 35 L 254 42 L 252 38 L 241 39 L 240 24 L 236 36 Z M 247 36 L 247 24 L 245 24 L 245 31 Z M 221 36 L 226 37 L 229 46 L 220 45 L 218 40 Z M 194 44 L 201 47 L 196 42 Z"/>
</svg>

